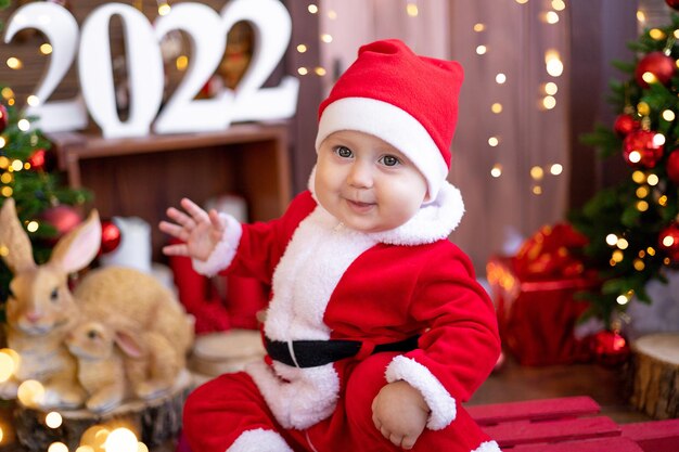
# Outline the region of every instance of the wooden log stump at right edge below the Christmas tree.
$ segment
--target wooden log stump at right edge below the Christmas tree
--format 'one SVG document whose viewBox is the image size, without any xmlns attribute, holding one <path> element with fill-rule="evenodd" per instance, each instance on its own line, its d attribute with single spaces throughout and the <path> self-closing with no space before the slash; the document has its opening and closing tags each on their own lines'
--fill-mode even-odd
<svg viewBox="0 0 679 452">
<path fill-rule="evenodd" d="M 655 419 L 679 417 L 679 333 L 642 336 L 631 349 L 631 404 Z"/>
</svg>

